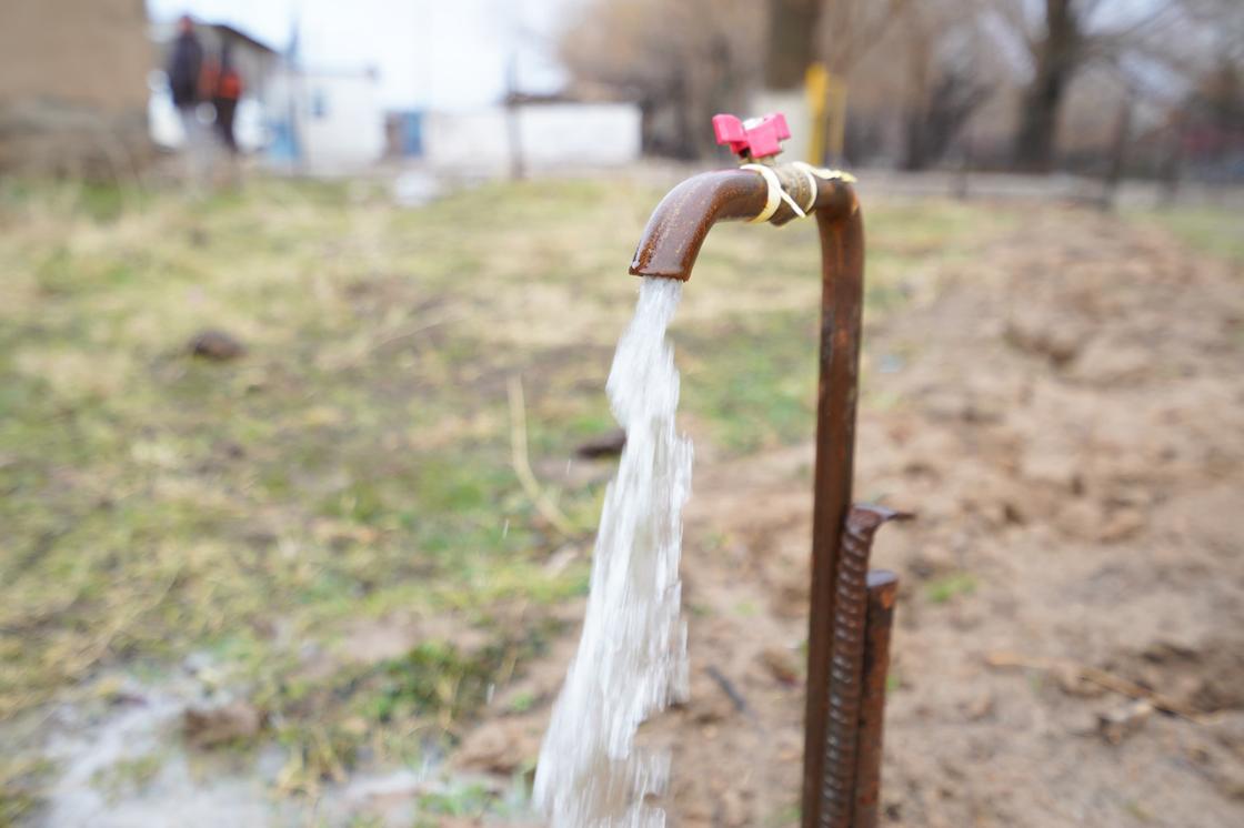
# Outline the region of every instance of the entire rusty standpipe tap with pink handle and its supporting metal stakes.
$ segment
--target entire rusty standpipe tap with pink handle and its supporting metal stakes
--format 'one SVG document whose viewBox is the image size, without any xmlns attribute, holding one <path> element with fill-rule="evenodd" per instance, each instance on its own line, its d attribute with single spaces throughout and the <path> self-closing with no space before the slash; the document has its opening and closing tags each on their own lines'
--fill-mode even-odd
<svg viewBox="0 0 1244 828">
<path fill-rule="evenodd" d="M 718 143 L 743 167 L 694 175 L 657 205 L 631 262 L 636 276 L 688 280 L 718 221 L 782 225 L 816 215 L 821 354 L 812 506 L 802 827 L 877 824 L 882 712 L 897 577 L 867 572 L 873 533 L 907 515 L 852 506 L 863 305 L 863 219 L 845 173 L 778 164 L 786 119 L 717 116 Z"/>
</svg>

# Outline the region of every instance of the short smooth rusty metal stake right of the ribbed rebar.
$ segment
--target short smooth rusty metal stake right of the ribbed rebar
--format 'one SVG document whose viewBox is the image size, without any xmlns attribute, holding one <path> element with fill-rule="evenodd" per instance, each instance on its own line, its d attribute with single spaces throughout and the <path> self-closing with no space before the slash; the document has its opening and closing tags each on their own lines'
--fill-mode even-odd
<svg viewBox="0 0 1244 828">
<path fill-rule="evenodd" d="M 889 674 L 889 634 L 894 627 L 898 576 L 886 569 L 868 573 L 865 620 L 863 696 L 860 700 L 860 745 L 856 747 L 855 822 L 851 828 L 877 828 L 881 811 L 881 746 Z"/>
</svg>

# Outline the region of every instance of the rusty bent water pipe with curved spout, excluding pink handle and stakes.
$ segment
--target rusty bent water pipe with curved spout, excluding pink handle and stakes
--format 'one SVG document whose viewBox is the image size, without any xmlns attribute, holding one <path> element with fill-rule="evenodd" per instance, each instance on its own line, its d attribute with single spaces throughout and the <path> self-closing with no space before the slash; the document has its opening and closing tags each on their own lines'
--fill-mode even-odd
<svg viewBox="0 0 1244 828">
<path fill-rule="evenodd" d="M 846 182 L 812 177 L 789 165 L 775 172 L 801 205 L 809 204 L 810 188 L 815 184 L 812 210 L 821 237 L 821 354 L 802 787 L 802 826 L 819 828 L 830 814 L 825 801 L 825 771 L 826 752 L 831 748 L 827 719 L 836 612 L 833 586 L 838 577 L 855 466 L 863 220 L 855 190 Z M 631 262 L 631 272 L 690 278 L 695 257 L 713 225 L 755 218 L 764 211 L 768 198 L 765 179 L 751 170 L 704 173 L 687 179 L 657 205 Z M 769 220 L 784 224 L 795 215 L 784 203 Z"/>
</svg>

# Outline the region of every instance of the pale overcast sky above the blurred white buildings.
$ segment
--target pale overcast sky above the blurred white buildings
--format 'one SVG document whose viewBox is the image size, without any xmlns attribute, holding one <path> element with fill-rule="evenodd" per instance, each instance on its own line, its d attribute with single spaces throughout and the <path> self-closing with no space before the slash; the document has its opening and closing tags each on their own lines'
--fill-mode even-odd
<svg viewBox="0 0 1244 828">
<path fill-rule="evenodd" d="M 516 56 L 519 87 L 562 81 L 557 32 L 583 0 L 147 0 L 152 20 L 183 12 L 228 22 L 279 50 L 299 22 L 311 68 L 374 66 L 391 107 L 469 109 L 505 92 Z"/>
</svg>

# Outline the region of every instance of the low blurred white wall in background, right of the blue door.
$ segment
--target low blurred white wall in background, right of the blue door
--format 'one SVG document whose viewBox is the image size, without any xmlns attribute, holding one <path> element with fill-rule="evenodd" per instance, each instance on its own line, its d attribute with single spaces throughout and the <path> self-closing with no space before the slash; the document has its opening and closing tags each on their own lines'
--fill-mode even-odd
<svg viewBox="0 0 1244 828">
<path fill-rule="evenodd" d="M 428 164 L 481 177 L 510 169 L 509 114 L 503 107 L 430 112 L 424 118 Z M 631 103 L 546 103 L 519 107 L 522 164 L 540 172 L 620 167 L 639 159 L 639 108 Z"/>
</svg>

